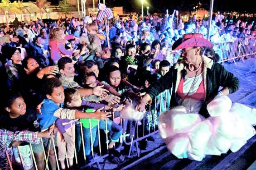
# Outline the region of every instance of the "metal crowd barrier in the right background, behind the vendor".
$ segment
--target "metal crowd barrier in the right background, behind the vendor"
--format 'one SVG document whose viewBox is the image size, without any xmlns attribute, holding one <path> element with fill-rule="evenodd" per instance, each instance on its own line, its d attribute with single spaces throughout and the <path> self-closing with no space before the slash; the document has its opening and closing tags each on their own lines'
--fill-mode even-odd
<svg viewBox="0 0 256 170">
<path fill-rule="evenodd" d="M 214 44 L 213 49 L 221 57 L 219 63 L 241 58 L 244 62 L 244 57 L 256 55 L 256 37 L 239 38 L 232 42 L 223 42 Z"/>
</svg>

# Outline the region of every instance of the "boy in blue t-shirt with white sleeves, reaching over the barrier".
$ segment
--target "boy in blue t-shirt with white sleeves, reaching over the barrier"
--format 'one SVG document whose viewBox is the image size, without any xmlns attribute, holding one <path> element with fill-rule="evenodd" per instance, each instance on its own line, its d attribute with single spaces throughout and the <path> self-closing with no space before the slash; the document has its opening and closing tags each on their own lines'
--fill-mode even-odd
<svg viewBox="0 0 256 170">
<path fill-rule="evenodd" d="M 85 119 L 85 118 L 94 118 L 94 119 L 106 119 L 111 115 L 109 113 L 103 113 L 99 110 L 90 113 L 84 114 L 79 110 L 70 110 L 63 108 L 65 95 L 64 88 L 62 83 L 58 78 L 48 78 L 43 84 L 43 90 L 46 94 L 46 99 L 43 100 L 43 104 L 41 106 L 41 114 L 38 114 L 39 126 L 41 130 L 48 129 L 49 126 L 54 124 L 54 122 L 58 119 Z M 53 144 L 50 144 L 48 140 L 44 140 L 44 147 L 51 145 L 49 160 L 50 164 L 53 168 L 56 167 L 56 159 L 53 151 Z M 33 148 L 34 152 L 39 155 L 39 160 L 43 160 L 43 146 L 38 145 Z M 48 150 L 47 150 L 48 151 Z M 42 165 L 43 166 L 43 165 Z M 52 169 L 53 169 L 52 168 Z"/>
</svg>

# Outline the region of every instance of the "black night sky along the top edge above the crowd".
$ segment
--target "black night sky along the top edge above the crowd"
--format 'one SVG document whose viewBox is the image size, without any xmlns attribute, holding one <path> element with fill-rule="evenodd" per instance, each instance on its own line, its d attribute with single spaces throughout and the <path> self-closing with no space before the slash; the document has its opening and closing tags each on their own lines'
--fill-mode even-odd
<svg viewBox="0 0 256 170">
<path fill-rule="evenodd" d="M 11 0 L 14 1 L 14 0 Z M 27 2 L 28 0 L 23 0 Z M 36 0 L 31 0 L 36 1 Z M 58 4 L 58 0 L 47 0 L 52 4 Z M 256 13 L 256 0 L 214 0 L 214 11 L 238 11 Z M 148 2 L 148 5 L 146 3 Z M 198 0 L 146 0 L 145 6 L 150 6 L 150 12 L 165 13 L 169 9 L 169 13 L 173 9 L 192 10 L 198 4 Z M 209 9 L 210 0 L 200 0 L 202 7 Z M 124 6 L 127 12 L 138 12 L 141 9 L 140 0 L 106 0 L 108 7 Z"/>
</svg>

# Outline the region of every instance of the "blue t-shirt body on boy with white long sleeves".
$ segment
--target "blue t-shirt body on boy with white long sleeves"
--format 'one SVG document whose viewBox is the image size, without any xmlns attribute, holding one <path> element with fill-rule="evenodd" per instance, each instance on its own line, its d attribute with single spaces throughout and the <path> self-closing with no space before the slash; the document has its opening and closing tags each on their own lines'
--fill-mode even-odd
<svg viewBox="0 0 256 170">
<path fill-rule="evenodd" d="M 56 110 L 63 107 L 63 105 L 64 103 L 62 103 L 61 106 L 58 106 L 49 99 L 43 100 L 43 105 L 41 106 L 42 114 L 37 114 L 41 130 L 48 129 L 58 119 L 58 117 L 53 116 L 53 114 Z"/>
</svg>

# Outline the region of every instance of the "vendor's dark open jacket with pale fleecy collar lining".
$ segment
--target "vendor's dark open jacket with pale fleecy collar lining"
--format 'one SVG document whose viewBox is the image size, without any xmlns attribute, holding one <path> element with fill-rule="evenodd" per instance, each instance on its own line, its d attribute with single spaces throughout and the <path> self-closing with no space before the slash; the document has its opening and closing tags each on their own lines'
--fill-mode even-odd
<svg viewBox="0 0 256 170">
<path fill-rule="evenodd" d="M 206 97 L 204 101 L 213 99 L 217 95 L 219 87 L 227 87 L 229 93 L 236 92 L 239 88 L 239 80 L 234 74 L 228 72 L 221 64 L 214 62 L 212 59 L 203 55 L 203 82 Z M 174 64 L 167 74 L 161 77 L 157 82 L 152 83 L 147 93 L 151 98 L 164 92 L 166 89 L 172 88 L 171 106 L 177 106 L 176 91 L 181 80 L 181 70 L 184 69 L 183 61 Z M 200 114 L 208 117 L 206 103 L 202 106 Z"/>
</svg>

